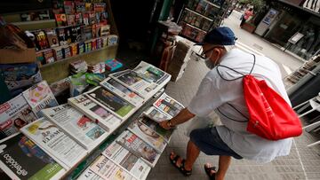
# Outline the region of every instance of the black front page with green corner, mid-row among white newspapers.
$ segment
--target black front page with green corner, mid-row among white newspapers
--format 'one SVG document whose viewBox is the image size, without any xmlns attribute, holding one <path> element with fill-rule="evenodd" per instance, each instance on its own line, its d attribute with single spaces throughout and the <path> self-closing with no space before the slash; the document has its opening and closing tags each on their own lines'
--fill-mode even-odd
<svg viewBox="0 0 320 180">
<path fill-rule="evenodd" d="M 135 106 L 123 98 L 119 98 L 114 92 L 105 90 L 102 87 L 88 91 L 85 95 L 98 105 L 106 107 L 111 113 L 114 113 L 122 120 L 126 120 L 135 111 Z"/>
</svg>

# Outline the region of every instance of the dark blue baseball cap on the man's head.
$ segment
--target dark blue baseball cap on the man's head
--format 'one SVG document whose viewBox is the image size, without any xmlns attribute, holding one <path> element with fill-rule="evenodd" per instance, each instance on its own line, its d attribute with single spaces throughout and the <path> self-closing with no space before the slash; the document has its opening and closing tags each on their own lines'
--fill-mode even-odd
<svg viewBox="0 0 320 180">
<path fill-rule="evenodd" d="M 204 36 L 203 42 L 196 43 L 196 45 L 204 45 L 204 43 L 235 45 L 236 39 L 236 35 L 229 27 L 216 27 Z"/>
</svg>

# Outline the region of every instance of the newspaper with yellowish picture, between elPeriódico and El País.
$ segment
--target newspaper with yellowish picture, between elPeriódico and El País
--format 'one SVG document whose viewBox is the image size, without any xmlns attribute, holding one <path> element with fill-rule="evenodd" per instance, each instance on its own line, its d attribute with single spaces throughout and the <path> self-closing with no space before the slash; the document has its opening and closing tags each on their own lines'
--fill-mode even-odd
<svg viewBox="0 0 320 180">
<path fill-rule="evenodd" d="M 33 121 L 20 130 L 63 168 L 72 168 L 87 153 L 81 145 L 45 118 Z"/>
</svg>

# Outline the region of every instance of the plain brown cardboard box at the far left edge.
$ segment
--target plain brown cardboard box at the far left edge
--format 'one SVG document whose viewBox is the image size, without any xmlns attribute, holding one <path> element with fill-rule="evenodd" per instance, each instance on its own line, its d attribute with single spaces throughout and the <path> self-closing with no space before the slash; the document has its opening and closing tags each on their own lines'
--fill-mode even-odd
<svg viewBox="0 0 320 180">
<path fill-rule="evenodd" d="M 27 50 L 0 49 L 0 64 L 36 62 L 36 48 Z"/>
</svg>

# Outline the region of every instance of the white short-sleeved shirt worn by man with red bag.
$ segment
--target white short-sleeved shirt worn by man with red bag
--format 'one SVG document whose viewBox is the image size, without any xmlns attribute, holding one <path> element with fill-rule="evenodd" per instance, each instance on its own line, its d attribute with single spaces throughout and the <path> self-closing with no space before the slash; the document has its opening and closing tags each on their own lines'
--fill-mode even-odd
<svg viewBox="0 0 320 180">
<path fill-rule="evenodd" d="M 244 51 L 233 49 L 222 57 L 220 65 L 248 74 L 253 66 L 253 56 Z M 228 80 L 241 76 L 241 74 L 225 67 L 219 67 L 218 71 L 224 79 Z M 291 105 L 284 89 L 280 69 L 274 61 L 256 55 L 256 64 L 252 75 L 259 80 L 265 80 L 269 87 L 276 90 Z M 244 116 L 226 103 L 236 107 L 246 117 L 249 117 L 244 102 L 243 78 L 235 81 L 223 80 L 217 72 L 217 67 L 214 67 L 205 75 L 196 96 L 188 106 L 188 110 L 200 117 L 207 116 L 213 110 L 218 113 L 223 124 L 217 127 L 221 139 L 244 159 L 268 162 L 274 160 L 276 156 L 290 153 L 292 138 L 270 141 L 249 133 L 246 130 L 247 122 L 239 122 L 246 121 Z M 237 121 L 232 121 L 224 115 Z"/>
</svg>

